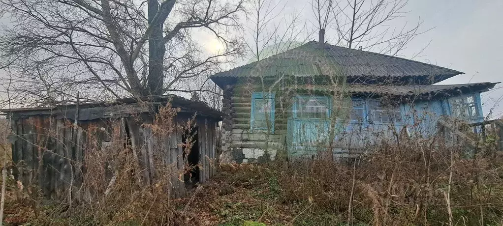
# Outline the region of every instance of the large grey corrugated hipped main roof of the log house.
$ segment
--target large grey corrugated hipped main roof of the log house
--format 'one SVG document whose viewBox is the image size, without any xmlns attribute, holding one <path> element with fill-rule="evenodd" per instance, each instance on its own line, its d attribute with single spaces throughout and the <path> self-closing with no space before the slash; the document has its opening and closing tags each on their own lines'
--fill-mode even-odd
<svg viewBox="0 0 503 226">
<path fill-rule="evenodd" d="M 329 44 L 319 45 L 318 42 L 311 41 L 263 60 L 216 73 L 211 79 L 222 86 L 232 78 L 246 76 L 272 76 L 278 73 L 315 76 L 322 75 L 320 67 L 323 67 L 323 64 L 344 68 L 344 74 L 348 77 L 424 77 L 430 78 L 429 84 L 463 74 L 460 71 L 414 60 Z"/>
</svg>

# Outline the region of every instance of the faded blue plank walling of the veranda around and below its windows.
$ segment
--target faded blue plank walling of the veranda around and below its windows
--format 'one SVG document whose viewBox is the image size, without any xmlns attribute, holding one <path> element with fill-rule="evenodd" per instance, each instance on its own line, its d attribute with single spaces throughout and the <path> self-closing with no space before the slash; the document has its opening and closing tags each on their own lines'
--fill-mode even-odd
<svg viewBox="0 0 503 226">
<path fill-rule="evenodd" d="M 392 139 L 396 133 L 400 133 L 403 128 L 406 128 L 409 133 L 414 135 L 421 135 L 424 137 L 433 136 L 437 133 L 438 127 L 437 123 L 442 116 L 451 116 L 452 107 L 449 100 L 451 98 L 465 97 L 468 95 L 473 95 L 476 107 L 478 110 L 478 116 L 465 119 L 468 123 L 475 123 L 483 121 L 482 105 L 480 102 L 480 93 L 465 94 L 462 96 L 453 96 L 441 99 L 434 99 L 429 101 L 415 101 L 412 103 L 402 103 L 397 106 L 400 110 L 401 122 L 395 122 L 394 125 L 389 123 L 376 123 L 369 121 L 369 109 L 367 109 L 367 104 L 363 106 L 364 117 L 361 120 L 347 120 L 342 126 L 338 126 L 342 133 L 336 137 L 341 146 L 351 145 L 353 147 L 365 147 L 369 144 L 376 144 L 384 136 L 388 139 Z M 357 98 L 353 98 L 353 101 L 357 101 Z M 329 107 L 329 106 L 328 106 Z M 294 107 L 295 108 L 295 104 Z M 295 112 L 293 112 L 295 115 Z M 288 136 L 290 147 L 290 153 L 297 154 L 307 154 L 304 153 L 309 150 L 309 154 L 315 150 L 314 147 L 300 147 L 304 141 L 312 141 L 317 137 L 326 137 L 325 129 L 328 129 L 328 122 L 320 119 L 306 120 L 306 119 L 295 119 L 291 118 L 288 121 Z M 320 130 L 321 128 L 321 130 Z M 339 132 L 339 131 L 338 131 Z M 323 134 L 323 135 L 321 135 Z M 380 134 L 380 135 L 377 135 Z M 287 138 L 288 139 L 288 138 Z M 351 143 L 351 144 L 350 144 Z"/>
</svg>

